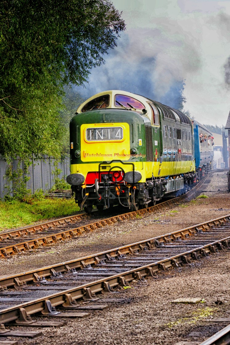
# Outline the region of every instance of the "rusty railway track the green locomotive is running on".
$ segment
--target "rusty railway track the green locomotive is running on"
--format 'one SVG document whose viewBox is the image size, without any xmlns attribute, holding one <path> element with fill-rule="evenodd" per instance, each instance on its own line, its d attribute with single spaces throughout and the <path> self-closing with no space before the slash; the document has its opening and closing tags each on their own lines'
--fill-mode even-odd
<svg viewBox="0 0 230 345">
<path fill-rule="evenodd" d="M 223 171 L 223 169 L 221 169 L 221 171 Z M 34 226 L 28 226 L 18 230 L 1 232 L 0 258 L 10 258 L 12 255 L 19 254 L 30 255 L 39 250 L 49 250 L 51 245 L 61 243 L 64 240 L 79 238 L 79 236 L 84 232 L 90 232 L 107 225 L 113 225 L 117 222 L 132 219 L 136 216 L 144 216 L 145 214 L 154 212 L 155 210 L 176 204 L 179 201 L 189 201 L 191 198 L 196 197 L 201 193 L 202 186 L 206 181 L 210 180 L 209 176 L 213 172 L 217 172 L 217 170 L 210 172 L 202 181 L 200 181 L 199 184 L 186 194 L 146 209 L 130 211 L 128 213 L 111 216 L 109 218 L 97 217 L 97 212 L 92 213 L 92 215 L 82 213 Z M 93 222 L 89 223 L 89 218 L 94 218 Z"/>
</svg>

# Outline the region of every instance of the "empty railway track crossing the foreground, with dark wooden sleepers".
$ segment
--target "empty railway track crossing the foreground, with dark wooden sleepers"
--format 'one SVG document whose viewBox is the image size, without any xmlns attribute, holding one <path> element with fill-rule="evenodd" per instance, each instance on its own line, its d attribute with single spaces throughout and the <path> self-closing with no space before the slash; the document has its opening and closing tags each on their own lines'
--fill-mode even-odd
<svg viewBox="0 0 230 345">
<path fill-rule="evenodd" d="M 230 249 L 230 215 L 106 252 L 0 278 L 0 336 L 32 334 L 12 331 L 4 324 L 58 326 L 60 322 L 56 318 L 83 317 L 91 310 L 106 308 L 109 303 L 122 303 L 124 299 L 116 297 L 117 288 L 128 286 L 132 280 L 141 282 L 162 270 L 192 264 L 223 249 Z"/>
</svg>

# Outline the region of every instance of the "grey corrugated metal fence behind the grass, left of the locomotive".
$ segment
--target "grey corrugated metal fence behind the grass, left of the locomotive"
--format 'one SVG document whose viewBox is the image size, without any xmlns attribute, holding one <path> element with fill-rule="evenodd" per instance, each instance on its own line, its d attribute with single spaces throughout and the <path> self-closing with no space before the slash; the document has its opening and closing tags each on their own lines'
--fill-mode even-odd
<svg viewBox="0 0 230 345">
<path fill-rule="evenodd" d="M 27 189 L 31 189 L 31 193 L 34 194 L 37 190 L 42 189 L 44 192 L 47 192 L 52 188 L 54 184 L 54 158 L 48 156 L 42 156 L 41 159 L 35 160 L 34 158 L 29 159 L 31 164 L 28 168 L 28 173 L 25 176 L 30 177 L 27 181 Z M 24 161 L 20 157 L 11 160 L 12 172 L 17 170 L 18 164 L 20 168 L 23 169 Z M 62 170 L 58 176 L 60 179 L 63 176 L 69 175 L 69 157 L 65 157 L 57 165 L 59 169 Z M 0 157 L 0 199 L 3 200 L 4 196 L 8 193 L 6 186 L 9 186 L 12 190 L 12 182 L 6 178 L 6 169 L 8 164 L 6 159 Z M 24 176 L 23 176 L 24 177 Z M 12 192 L 10 194 L 12 196 Z"/>
</svg>

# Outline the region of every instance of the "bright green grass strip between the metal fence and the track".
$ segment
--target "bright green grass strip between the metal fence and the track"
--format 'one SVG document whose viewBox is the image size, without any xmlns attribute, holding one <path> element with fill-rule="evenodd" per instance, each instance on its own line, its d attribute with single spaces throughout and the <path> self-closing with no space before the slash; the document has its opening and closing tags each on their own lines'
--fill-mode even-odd
<svg viewBox="0 0 230 345">
<path fill-rule="evenodd" d="M 71 199 L 43 198 L 32 204 L 12 200 L 0 201 L 0 231 L 20 228 L 44 219 L 75 214 L 79 207 Z"/>
</svg>

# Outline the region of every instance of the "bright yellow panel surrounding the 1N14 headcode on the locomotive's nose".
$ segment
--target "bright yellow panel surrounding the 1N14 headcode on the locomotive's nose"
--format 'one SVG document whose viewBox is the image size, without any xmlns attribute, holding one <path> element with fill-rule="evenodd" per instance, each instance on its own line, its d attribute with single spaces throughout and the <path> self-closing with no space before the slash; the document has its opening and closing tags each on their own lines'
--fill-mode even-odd
<svg viewBox="0 0 230 345">
<path fill-rule="evenodd" d="M 97 140 L 88 141 L 86 138 L 87 128 L 108 128 L 121 127 L 123 129 L 123 138 L 121 140 Z M 130 139 L 129 124 L 122 123 L 101 123 L 101 124 L 84 124 L 81 125 L 81 160 L 83 162 L 95 162 L 103 160 L 121 159 L 128 160 L 130 158 Z M 93 171 L 93 170 L 90 170 Z M 98 169 L 96 170 L 98 171 Z"/>
</svg>

